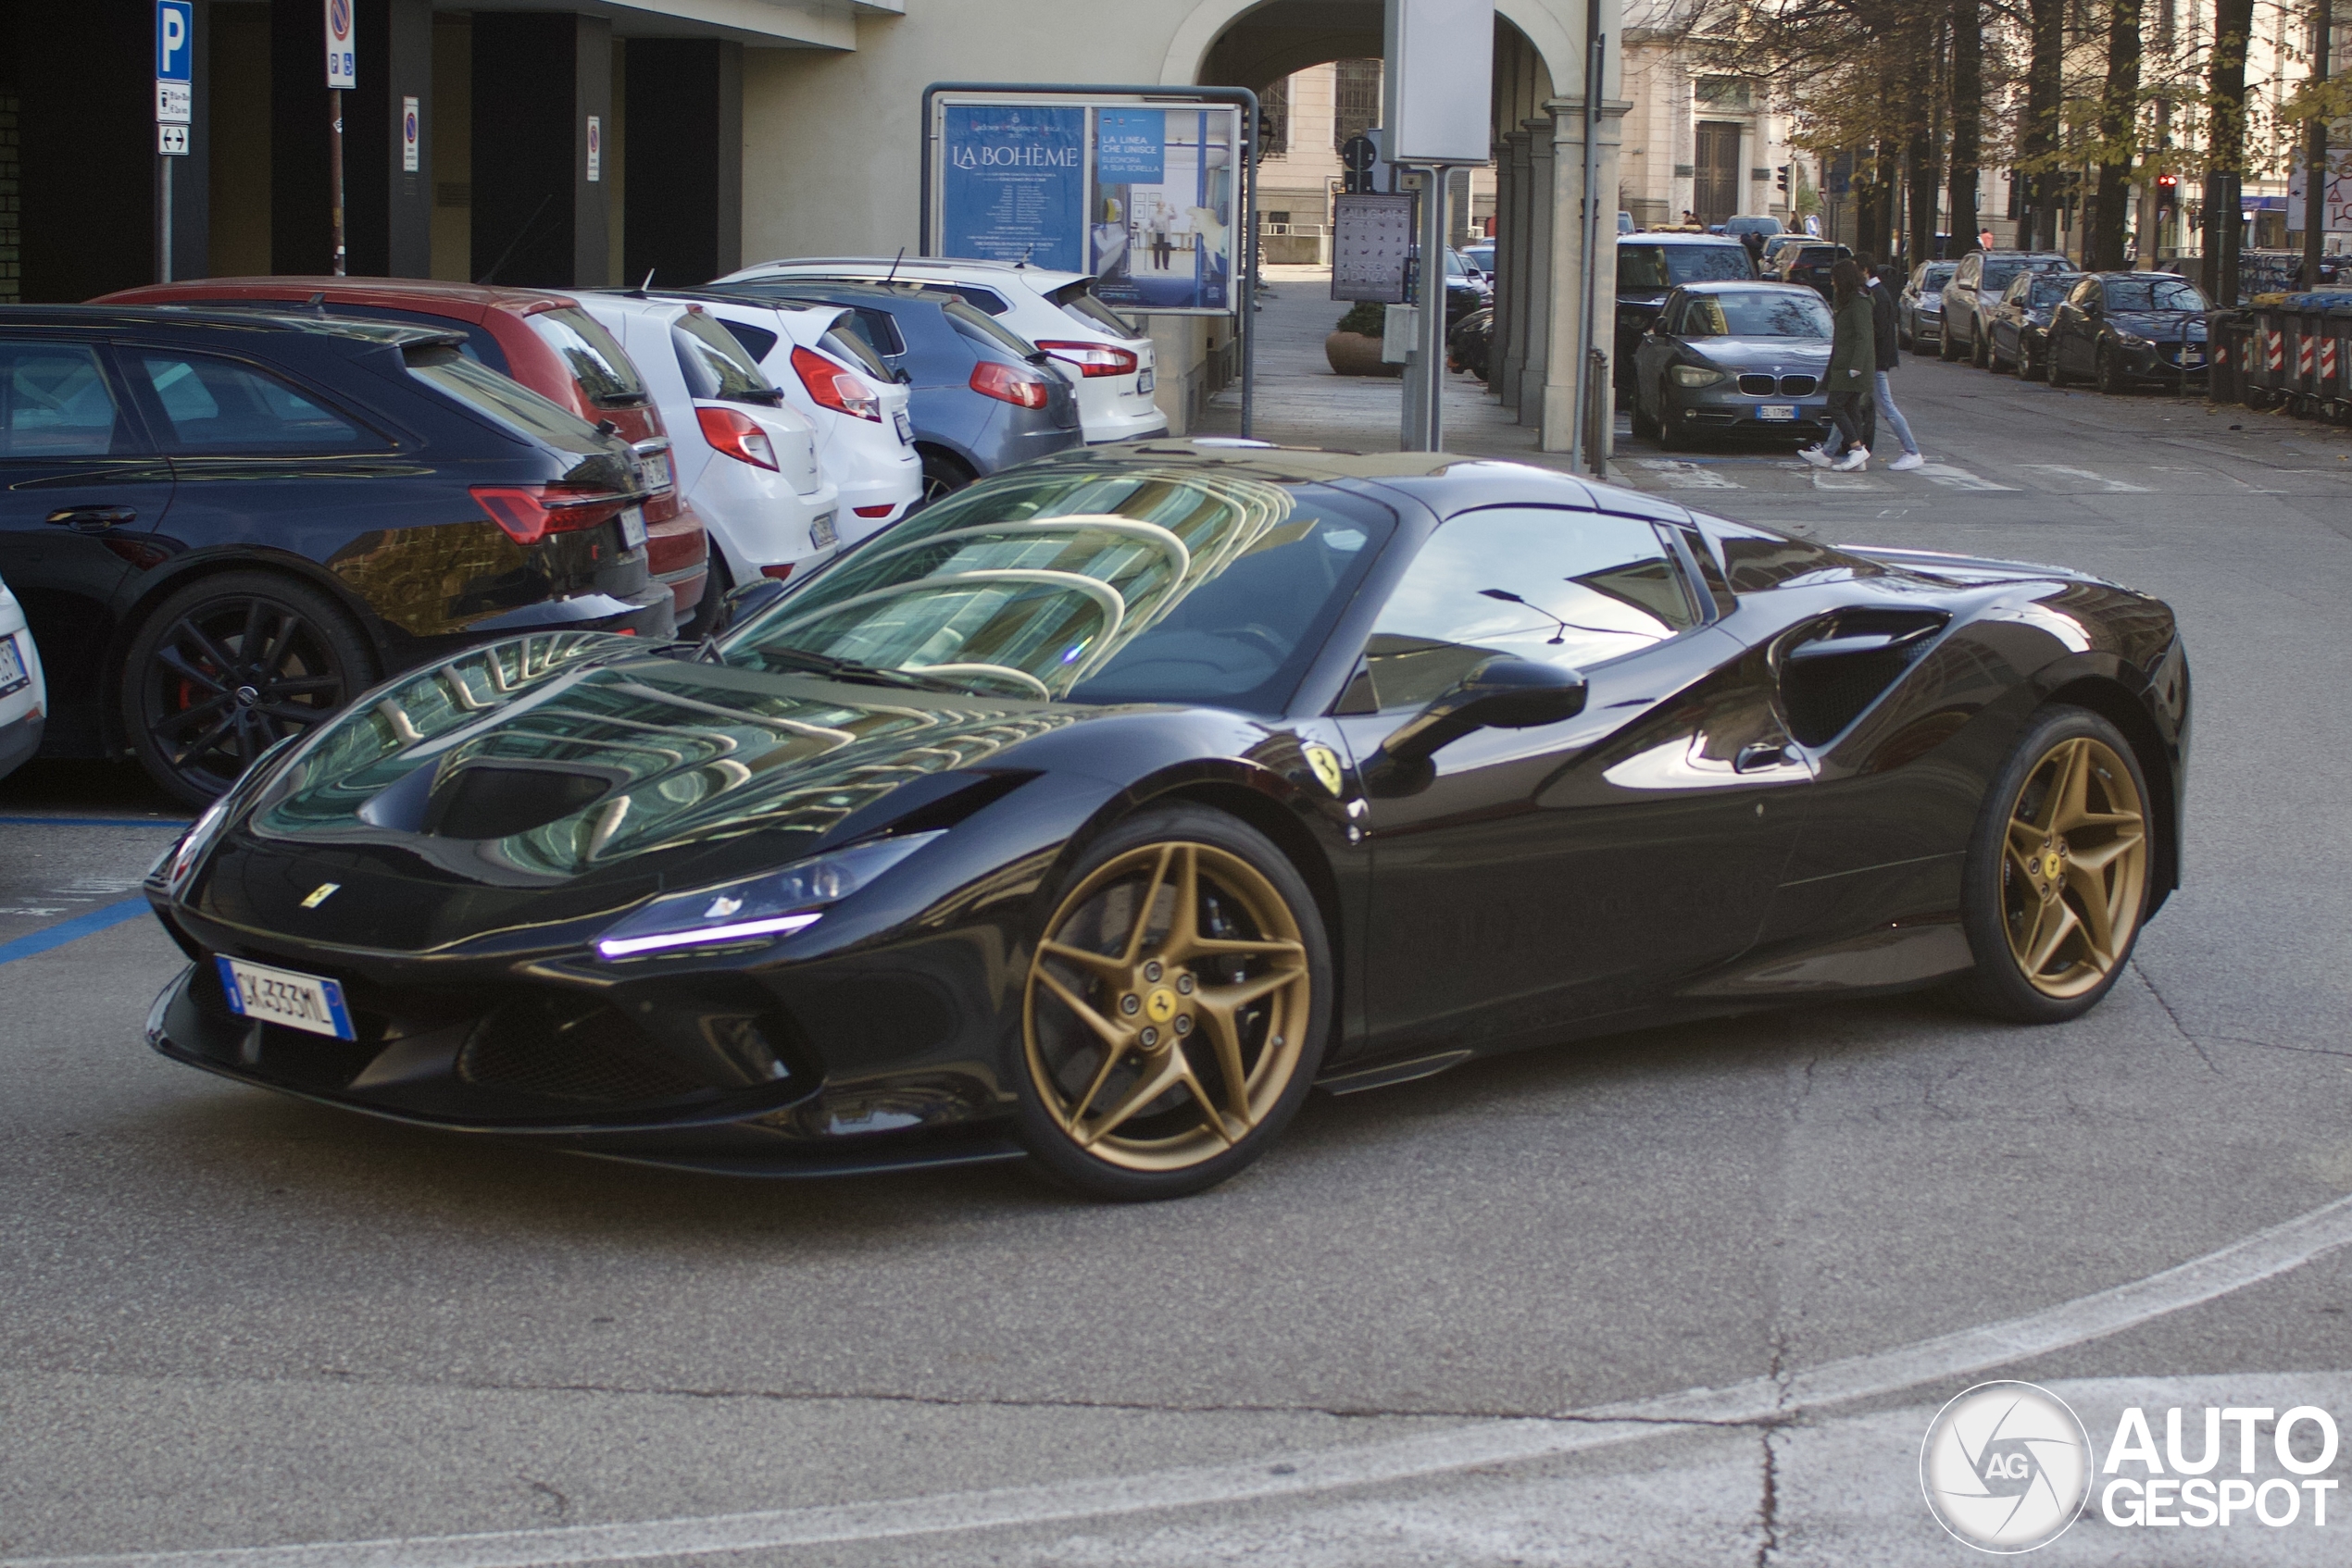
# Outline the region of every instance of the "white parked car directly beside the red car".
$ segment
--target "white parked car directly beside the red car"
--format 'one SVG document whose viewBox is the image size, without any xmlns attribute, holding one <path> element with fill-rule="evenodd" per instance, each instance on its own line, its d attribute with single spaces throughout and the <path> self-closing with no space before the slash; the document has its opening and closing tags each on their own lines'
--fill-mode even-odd
<svg viewBox="0 0 2352 1568">
<path fill-rule="evenodd" d="M 734 334 L 677 299 L 576 299 L 654 393 L 677 489 L 710 527 L 729 583 L 788 578 L 840 548 L 840 491 L 816 458 L 816 425 L 786 407 Z"/>
</svg>

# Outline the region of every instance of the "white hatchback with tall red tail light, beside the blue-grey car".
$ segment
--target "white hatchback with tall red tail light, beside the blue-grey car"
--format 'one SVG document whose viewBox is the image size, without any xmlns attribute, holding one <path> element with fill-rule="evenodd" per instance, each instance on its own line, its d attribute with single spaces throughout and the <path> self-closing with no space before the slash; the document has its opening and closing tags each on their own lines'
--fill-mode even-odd
<svg viewBox="0 0 2352 1568">
<path fill-rule="evenodd" d="M 922 501 L 922 454 L 908 390 L 856 331 L 840 327 L 854 313 L 837 306 L 762 306 L 722 296 L 699 299 L 753 360 L 783 388 L 786 404 L 816 425 L 816 461 L 842 498 L 835 529 L 844 545 L 908 515 Z"/>
</svg>

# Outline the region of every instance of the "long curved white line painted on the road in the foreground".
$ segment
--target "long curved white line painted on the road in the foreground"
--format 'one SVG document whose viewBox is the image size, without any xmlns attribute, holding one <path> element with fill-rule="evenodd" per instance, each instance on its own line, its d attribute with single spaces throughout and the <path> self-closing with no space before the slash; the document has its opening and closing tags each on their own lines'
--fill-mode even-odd
<svg viewBox="0 0 2352 1568">
<path fill-rule="evenodd" d="M 1851 1403 L 1980 1373 L 2067 1345 L 2107 1338 L 2183 1307 L 2286 1274 L 2352 1244 L 2352 1197 L 2232 1241 L 2204 1258 L 2002 1324 L 1828 1361 L 1788 1380 L 1750 1378 L 1573 1410 L 1557 1420 L 1498 1420 L 1359 1448 L 1275 1455 L 1249 1465 L 1164 1469 L 1141 1476 L 1007 1486 L 887 1502 L 837 1502 L 706 1519 L 489 1530 L 409 1540 L 127 1552 L 113 1556 L 5 1559 L 0 1568 L 553 1568 L 659 1556 L 710 1556 L 856 1540 L 903 1540 L 997 1526 L 1197 1509 L 1251 1497 L 1317 1495 L 1588 1448 L 1635 1443 L 1703 1425 L 1759 1425 L 1799 1410 Z"/>
</svg>

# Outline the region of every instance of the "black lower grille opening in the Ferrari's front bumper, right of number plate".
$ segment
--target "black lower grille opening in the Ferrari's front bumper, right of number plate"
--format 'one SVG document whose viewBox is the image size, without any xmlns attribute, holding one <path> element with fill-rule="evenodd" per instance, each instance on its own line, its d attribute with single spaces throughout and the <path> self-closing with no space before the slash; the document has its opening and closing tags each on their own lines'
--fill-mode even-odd
<svg viewBox="0 0 2352 1568">
<path fill-rule="evenodd" d="M 602 1001 L 529 994 L 499 1004 L 459 1051 L 456 1072 L 477 1088 L 623 1107 L 708 1088 Z"/>
</svg>

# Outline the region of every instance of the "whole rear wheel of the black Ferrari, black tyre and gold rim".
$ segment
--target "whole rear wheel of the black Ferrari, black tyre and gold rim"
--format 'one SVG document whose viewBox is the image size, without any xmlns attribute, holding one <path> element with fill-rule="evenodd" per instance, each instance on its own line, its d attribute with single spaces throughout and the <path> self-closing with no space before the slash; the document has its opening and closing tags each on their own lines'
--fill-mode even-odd
<svg viewBox="0 0 2352 1568">
<path fill-rule="evenodd" d="M 1957 983 L 1964 1001 L 2011 1023 L 2065 1023 L 2114 990 L 2147 919 L 2147 799 L 2114 724 L 2065 703 L 2032 717 L 1969 835 L 1959 910 L 1976 969 Z"/>
</svg>

